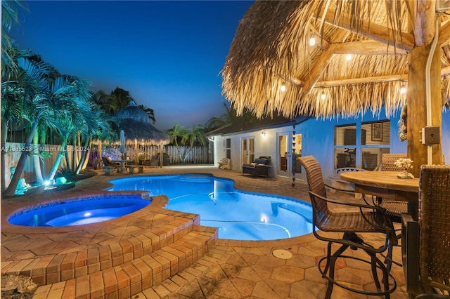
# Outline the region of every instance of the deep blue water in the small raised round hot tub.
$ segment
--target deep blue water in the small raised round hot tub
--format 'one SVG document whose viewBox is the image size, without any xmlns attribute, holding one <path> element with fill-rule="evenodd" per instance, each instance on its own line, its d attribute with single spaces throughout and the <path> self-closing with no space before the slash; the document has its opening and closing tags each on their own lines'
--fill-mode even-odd
<svg viewBox="0 0 450 299">
<path fill-rule="evenodd" d="M 32 227 L 85 225 L 133 213 L 150 202 L 140 194 L 77 197 L 26 208 L 11 215 L 8 222 Z"/>
</svg>

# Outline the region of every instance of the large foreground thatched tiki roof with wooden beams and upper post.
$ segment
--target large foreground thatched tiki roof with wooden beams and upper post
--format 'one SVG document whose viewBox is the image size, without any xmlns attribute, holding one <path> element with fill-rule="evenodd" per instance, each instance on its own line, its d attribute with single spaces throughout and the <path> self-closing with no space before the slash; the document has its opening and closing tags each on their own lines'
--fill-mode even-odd
<svg viewBox="0 0 450 299">
<path fill-rule="evenodd" d="M 435 4 L 256 1 L 240 21 L 222 69 L 223 93 L 238 113 L 247 108 L 257 117 L 275 113 L 328 119 L 367 110 L 377 115 L 382 107 L 390 118 L 407 101 L 409 114 L 425 114 L 416 106 L 426 107 L 425 90 L 431 90 L 433 109 L 442 113 L 442 106 L 450 104 L 450 15 Z M 316 44 L 311 46 L 313 36 Z M 425 86 L 425 64 L 433 49 L 431 83 Z M 400 93 L 402 85 L 407 93 Z M 441 126 L 441 120 L 439 114 L 433 126 Z M 426 117 L 419 126 L 430 126 L 425 122 Z M 411 151 L 426 164 L 416 131 L 408 128 L 408 154 L 415 140 Z M 433 150 L 438 151 L 440 145 Z"/>
</svg>

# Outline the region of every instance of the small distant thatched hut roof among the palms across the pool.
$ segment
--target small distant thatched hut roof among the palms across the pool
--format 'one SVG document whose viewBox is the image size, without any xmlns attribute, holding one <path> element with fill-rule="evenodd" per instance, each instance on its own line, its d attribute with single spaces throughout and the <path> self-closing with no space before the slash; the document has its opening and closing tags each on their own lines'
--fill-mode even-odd
<svg viewBox="0 0 450 299">
<path fill-rule="evenodd" d="M 117 111 L 115 118 L 119 123 L 119 131 L 123 130 L 125 133 L 127 145 L 135 145 L 136 142 L 145 145 L 167 145 L 170 142 L 169 136 L 150 124 L 146 112 L 133 101 Z"/>
</svg>

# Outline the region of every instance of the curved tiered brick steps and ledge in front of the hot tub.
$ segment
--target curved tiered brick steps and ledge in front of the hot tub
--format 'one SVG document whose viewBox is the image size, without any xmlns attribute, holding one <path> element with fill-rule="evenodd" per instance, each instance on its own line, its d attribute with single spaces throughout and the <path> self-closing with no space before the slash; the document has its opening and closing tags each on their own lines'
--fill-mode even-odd
<svg viewBox="0 0 450 299">
<path fill-rule="evenodd" d="M 192 265 L 218 239 L 217 228 L 163 208 L 167 201 L 154 197 L 146 208 L 82 230 L 39 228 L 24 236 L 8 225 L 1 274 L 31 277 L 35 299 L 129 298 Z"/>
</svg>

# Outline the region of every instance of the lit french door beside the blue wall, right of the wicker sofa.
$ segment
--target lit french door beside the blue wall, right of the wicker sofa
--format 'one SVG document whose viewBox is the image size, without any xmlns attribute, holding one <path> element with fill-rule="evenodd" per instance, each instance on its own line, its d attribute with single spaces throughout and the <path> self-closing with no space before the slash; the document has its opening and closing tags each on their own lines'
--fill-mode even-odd
<svg viewBox="0 0 450 299">
<path fill-rule="evenodd" d="M 293 131 L 280 132 L 276 134 L 276 140 L 276 175 L 292 178 L 294 172 L 300 172 L 300 165 L 295 159 L 302 154 L 302 134 Z"/>
</svg>

